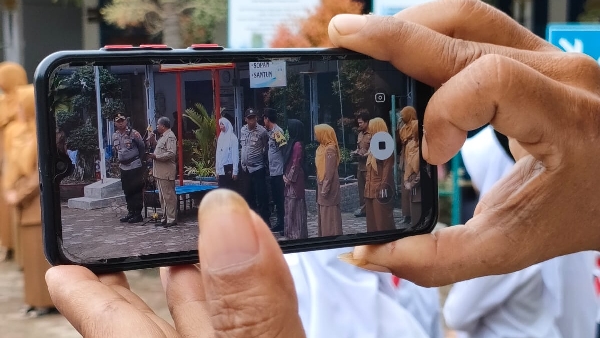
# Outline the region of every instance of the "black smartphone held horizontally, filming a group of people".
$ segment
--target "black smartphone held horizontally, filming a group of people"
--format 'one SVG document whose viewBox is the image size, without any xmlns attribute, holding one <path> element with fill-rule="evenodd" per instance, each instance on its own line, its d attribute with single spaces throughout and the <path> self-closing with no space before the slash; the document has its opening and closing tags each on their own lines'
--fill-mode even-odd
<svg viewBox="0 0 600 338">
<path fill-rule="evenodd" d="M 436 225 L 437 170 L 420 148 L 434 90 L 388 62 L 344 49 L 106 46 L 49 55 L 34 85 L 52 265 L 196 263 L 197 207 L 214 189 L 244 196 L 284 253 Z M 152 149 L 139 146 L 157 130 Z M 170 155 L 135 158 L 144 152 Z"/>
</svg>

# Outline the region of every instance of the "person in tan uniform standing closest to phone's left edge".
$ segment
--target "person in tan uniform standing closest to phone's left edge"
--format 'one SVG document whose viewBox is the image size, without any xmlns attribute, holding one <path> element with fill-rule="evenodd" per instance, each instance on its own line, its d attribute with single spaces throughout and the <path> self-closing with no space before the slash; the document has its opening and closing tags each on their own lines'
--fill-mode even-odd
<svg viewBox="0 0 600 338">
<path fill-rule="evenodd" d="M 54 307 L 45 274 L 50 268 L 42 243 L 42 212 L 37 165 L 37 138 L 33 86 L 19 93 L 24 113 L 9 124 L 5 133 L 4 190 L 16 193 L 18 241 L 22 248 L 25 303 L 31 307 Z M 24 120 L 27 119 L 27 120 Z"/>
</svg>

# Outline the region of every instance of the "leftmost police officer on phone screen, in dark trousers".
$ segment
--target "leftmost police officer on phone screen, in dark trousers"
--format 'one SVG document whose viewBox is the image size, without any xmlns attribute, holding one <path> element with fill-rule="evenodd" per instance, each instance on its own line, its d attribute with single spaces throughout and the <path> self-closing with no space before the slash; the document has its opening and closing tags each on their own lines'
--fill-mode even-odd
<svg viewBox="0 0 600 338">
<path fill-rule="evenodd" d="M 127 215 L 121 222 L 138 223 L 142 217 L 144 166 L 146 146 L 139 132 L 127 126 L 127 118 L 121 113 L 115 117 L 113 146 L 119 159 L 121 185 L 127 202 Z"/>
</svg>

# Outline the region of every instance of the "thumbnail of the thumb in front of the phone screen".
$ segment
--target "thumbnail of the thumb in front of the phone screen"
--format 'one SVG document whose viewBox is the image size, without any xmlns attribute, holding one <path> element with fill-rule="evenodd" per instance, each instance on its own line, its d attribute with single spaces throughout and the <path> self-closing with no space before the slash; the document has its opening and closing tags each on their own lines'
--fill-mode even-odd
<svg viewBox="0 0 600 338">
<path fill-rule="evenodd" d="M 237 193 L 217 189 L 206 194 L 198 208 L 200 260 L 210 269 L 248 262 L 259 251 L 250 208 Z"/>
</svg>

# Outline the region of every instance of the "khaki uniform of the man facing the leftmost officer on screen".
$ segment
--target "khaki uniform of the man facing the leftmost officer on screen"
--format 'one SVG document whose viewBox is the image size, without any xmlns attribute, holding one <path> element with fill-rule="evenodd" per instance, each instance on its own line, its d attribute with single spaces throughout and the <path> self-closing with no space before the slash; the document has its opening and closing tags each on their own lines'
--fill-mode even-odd
<svg viewBox="0 0 600 338">
<path fill-rule="evenodd" d="M 163 220 L 166 219 L 167 223 L 172 223 L 177 220 L 177 195 L 175 194 L 177 138 L 171 129 L 164 132 L 158 139 L 154 155 L 156 159 L 152 174 L 158 186 Z"/>
</svg>

